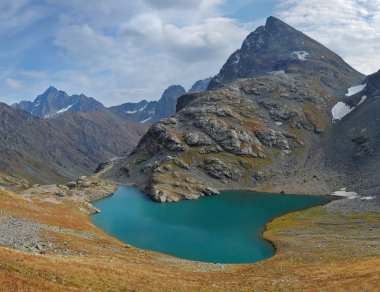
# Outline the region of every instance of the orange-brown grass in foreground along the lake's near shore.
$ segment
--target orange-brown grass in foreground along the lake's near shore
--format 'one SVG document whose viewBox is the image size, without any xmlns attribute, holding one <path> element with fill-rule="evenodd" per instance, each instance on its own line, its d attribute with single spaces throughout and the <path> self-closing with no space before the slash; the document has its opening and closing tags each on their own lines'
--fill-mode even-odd
<svg viewBox="0 0 380 292">
<path fill-rule="evenodd" d="M 0 191 L 0 214 L 70 229 L 47 231 L 54 249 L 31 254 L 0 247 L 0 291 L 321 290 L 376 291 L 380 286 L 380 215 L 342 215 L 324 207 L 267 225 L 277 247 L 266 261 L 212 265 L 129 247 L 103 233 L 77 203 L 23 199 Z M 81 236 L 83 232 L 90 238 Z"/>
</svg>

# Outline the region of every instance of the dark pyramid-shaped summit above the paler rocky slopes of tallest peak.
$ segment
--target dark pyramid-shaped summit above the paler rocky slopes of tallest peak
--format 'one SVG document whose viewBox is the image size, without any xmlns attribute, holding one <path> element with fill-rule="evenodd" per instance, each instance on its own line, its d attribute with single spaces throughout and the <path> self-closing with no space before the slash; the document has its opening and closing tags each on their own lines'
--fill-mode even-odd
<svg viewBox="0 0 380 292">
<path fill-rule="evenodd" d="M 353 69 L 338 55 L 281 20 L 269 17 L 265 26 L 252 32 L 231 55 L 208 88 L 237 78 L 281 70 L 285 73 L 325 73 L 336 80 L 353 75 Z M 336 87 L 334 80 L 325 80 L 325 83 Z"/>
</svg>

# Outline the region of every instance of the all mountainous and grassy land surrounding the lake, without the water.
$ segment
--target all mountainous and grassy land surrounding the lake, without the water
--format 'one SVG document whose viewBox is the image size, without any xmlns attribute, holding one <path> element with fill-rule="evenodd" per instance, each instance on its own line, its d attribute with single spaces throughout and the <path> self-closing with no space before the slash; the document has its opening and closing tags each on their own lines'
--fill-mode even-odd
<svg viewBox="0 0 380 292">
<path fill-rule="evenodd" d="M 106 108 L 51 87 L 0 104 L 1 288 L 376 291 L 379 102 L 380 71 L 364 76 L 269 17 L 189 92 L 171 86 L 157 102 Z M 340 197 L 269 222 L 272 258 L 226 265 L 95 227 L 91 202 L 120 185 L 168 204 L 232 189 Z"/>
</svg>

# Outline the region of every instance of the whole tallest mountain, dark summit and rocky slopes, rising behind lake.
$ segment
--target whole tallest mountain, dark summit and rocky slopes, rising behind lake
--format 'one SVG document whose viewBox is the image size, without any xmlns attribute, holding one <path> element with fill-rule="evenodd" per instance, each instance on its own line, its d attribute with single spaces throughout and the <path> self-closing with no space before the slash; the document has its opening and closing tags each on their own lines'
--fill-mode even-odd
<svg viewBox="0 0 380 292">
<path fill-rule="evenodd" d="M 365 76 L 270 17 L 210 83 L 188 94 L 104 176 L 161 202 L 223 189 L 324 194 L 344 187 L 327 168 L 332 107 Z M 335 160 L 332 161 L 334 163 Z M 337 183 L 338 182 L 338 183 Z"/>
</svg>

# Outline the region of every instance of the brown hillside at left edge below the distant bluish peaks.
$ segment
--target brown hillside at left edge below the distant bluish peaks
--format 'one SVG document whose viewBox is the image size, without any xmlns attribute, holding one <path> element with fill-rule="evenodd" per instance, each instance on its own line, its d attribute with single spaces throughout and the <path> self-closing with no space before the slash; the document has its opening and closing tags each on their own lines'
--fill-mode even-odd
<svg viewBox="0 0 380 292">
<path fill-rule="evenodd" d="M 0 171 L 35 183 L 67 181 L 123 154 L 145 131 L 103 111 L 41 119 L 0 103 Z"/>
</svg>

